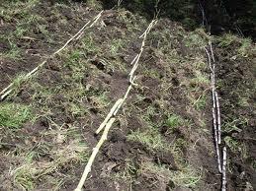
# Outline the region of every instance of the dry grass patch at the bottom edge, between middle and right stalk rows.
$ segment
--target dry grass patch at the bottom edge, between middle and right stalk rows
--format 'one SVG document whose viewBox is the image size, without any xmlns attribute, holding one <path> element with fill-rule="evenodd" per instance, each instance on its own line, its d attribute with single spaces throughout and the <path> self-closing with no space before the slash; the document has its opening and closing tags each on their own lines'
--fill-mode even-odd
<svg viewBox="0 0 256 191">
<path fill-rule="evenodd" d="M 135 185 L 141 183 L 136 180 L 137 177 L 153 180 L 159 190 L 172 190 L 176 187 L 195 189 L 202 179 L 202 169 L 196 170 L 190 164 L 184 164 L 179 170 L 171 170 L 165 164 L 145 161 L 137 165 L 128 159 L 124 171 L 115 173 L 113 178 Z"/>
</svg>

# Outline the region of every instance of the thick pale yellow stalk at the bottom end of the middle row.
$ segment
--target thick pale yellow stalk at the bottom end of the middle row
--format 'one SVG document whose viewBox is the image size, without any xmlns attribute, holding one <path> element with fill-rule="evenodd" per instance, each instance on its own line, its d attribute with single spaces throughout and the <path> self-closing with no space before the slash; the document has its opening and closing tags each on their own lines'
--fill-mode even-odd
<svg viewBox="0 0 256 191">
<path fill-rule="evenodd" d="M 102 134 L 102 137 L 101 137 L 100 141 L 98 142 L 96 147 L 93 149 L 93 153 L 92 153 L 91 157 L 89 158 L 89 160 L 88 160 L 88 162 L 87 162 L 87 164 L 84 168 L 84 172 L 82 174 L 82 177 L 81 177 L 75 191 L 82 191 L 82 187 L 84 185 L 84 182 L 85 182 L 89 172 L 91 171 L 91 167 L 92 167 L 92 164 L 94 162 L 94 159 L 96 158 L 96 155 L 99 153 L 99 151 L 100 151 L 102 145 L 104 144 L 104 142 L 107 140 L 109 130 L 112 127 L 115 120 L 116 120 L 116 118 L 111 118 L 109 120 L 109 122 L 107 123 L 106 128 L 104 129 L 104 132 Z"/>
</svg>

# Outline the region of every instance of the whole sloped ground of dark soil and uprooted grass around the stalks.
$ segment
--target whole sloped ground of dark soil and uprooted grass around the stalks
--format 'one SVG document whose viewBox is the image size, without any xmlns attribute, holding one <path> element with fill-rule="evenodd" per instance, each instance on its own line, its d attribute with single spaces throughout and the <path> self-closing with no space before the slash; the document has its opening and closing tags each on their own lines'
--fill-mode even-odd
<svg viewBox="0 0 256 191">
<path fill-rule="evenodd" d="M 41 48 L 38 48 L 40 56 L 30 66 L 24 63 L 30 63 L 34 55 L 26 51 L 28 47 L 19 41 L 20 37 L 11 36 L 12 40 L 21 43 L 19 52 L 22 54 L 13 59 L 10 57 L 12 49 L 8 49 L 8 45 L 4 47 L 1 66 L 2 71 L 6 72 L 1 89 L 11 82 L 7 76 L 14 78 L 19 73 L 30 71 L 40 63 L 42 57 L 61 46 L 69 37 L 65 28 L 70 30 L 68 33 L 75 33 L 98 13 L 83 4 L 73 4 L 67 8 L 64 4 L 29 2 L 28 5 L 35 3 L 36 6 L 28 9 L 28 13 L 39 10 L 37 13 L 40 14 L 40 10 L 47 5 L 48 10 L 58 8 L 58 13 L 62 13 L 63 17 L 67 17 L 67 13 L 72 13 L 72 16 L 63 29 L 58 27 L 60 20 L 51 23 L 55 30 L 49 32 L 48 36 L 52 41 L 43 38 L 42 42 L 37 43 L 41 44 Z M 26 3 L 23 5 L 28 6 Z M 11 9 L 14 5 L 5 6 Z M 63 11 L 65 9 L 68 11 Z M 42 20 L 59 17 L 50 13 L 43 12 Z M 14 21 L 10 20 L 10 24 L 8 21 L 3 18 L 2 29 L 14 25 Z M 79 41 L 49 60 L 35 77 L 17 86 L 14 95 L 1 102 L 1 190 L 73 190 L 76 187 L 92 148 L 99 140 L 99 136 L 95 135 L 96 129 L 115 101 L 127 91 L 128 73 L 132 67 L 130 62 L 138 53 L 142 40 L 138 36 L 148 24 L 142 17 L 126 10 L 104 12 L 96 26 L 85 31 Z M 73 27 L 70 28 L 70 25 Z M 29 33 L 23 35 L 39 38 L 42 34 L 31 32 L 34 28 L 37 27 L 30 25 Z M 9 33 L 4 32 L 1 40 Z M 202 30 L 186 32 L 179 24 L 166 19 L 159 20 L 149 32 L 136 71 L 138 86 L 131 90 L 108 141 L 97 156 L 91 176 L 85 183 L 86 190 L 220 188 L 213 148 L 210 71 L 203 50 L 209 37 Z M 228 188 L 239 190 L 244 188 L 244 182 L 253 185 L 255 177 L 255 117 L 248 110 L 253 111 L 252 105 L 255 103 L 255 73 L 251 70 L 254 65 L 249 64 L 253 61 L 253 55 L 248 54 L 244 58 L 246 55 L 236 53 L 234 61 L 234 55 L 225 52 L 235 40 L 225 44 L 221 44 L 221 40 L 215 41 L 214 48 L 221 63 L 217 68 L 217 77 L 218 88 L 222 91 L 223 120 L 229 127 L 229 116 L 238 119 L 238 116 L 247 113 L 247 124 L 250 126 L 246 131 L 251 130 L 252 138 L 247 139 L 246 131 L 242 131 L 244 135 L 241 132 L 235 134 L 239 135 L 235 138 L 226 132 L 226 144 L 231 151 L 228 165 L 232 170 L 227 173 Z M 51 43 L 55 45 L 51 47 Z M 241 47 L 241 44 L 236 47 Z M 241 69 L 232 70 L 233 62 L 238 63 Z M 244 62 L 248 65 L 244 65 Z M 8 63 L 16 69 L 9 69 Z M 227 67 L 224 63 L 230 64 Z M 233 74 L 231 77 L 236 77 L 237 71 L 248 76 L 243 81 L 233 83 L 231 77 L 225 78 L 227 71 Z M 246 82 L 250 83 L 248 87 L 244 86 L 248 84 Z M 236 102 L 230 97 L 230 91 L 234 89 L 241 91 L 234 93 L 242 94 L 245 89 L 250 93 L 250 96 L 243 96 L 248 104 L 239 107 L 239 112 L 236 112 L 236 107 L 230 110 L 230 102 Z M 238 128 L 245 129 L 244 125 L 241 126 Z M 243 143 L 248 148 L 249 162 L 245 162 L 248 158 L 241 156 L 238 162 L 233 159 L 242 152 L 233 151 L 233 146 L 228 145 L 233 143 L 229 142 L 229 138 L 237 141 L 238 146 Z M 242 165 L 242 169 L 250 168 L 245 171 L 241 183 L 237 178 L 241 177 L 242 171 L 236 168 L 239 167 L 236 164 Z M 234 172 L 232 176 L 231 172 Z M 232 182 L 238 183 L 235 185 Z"/>
</svg>

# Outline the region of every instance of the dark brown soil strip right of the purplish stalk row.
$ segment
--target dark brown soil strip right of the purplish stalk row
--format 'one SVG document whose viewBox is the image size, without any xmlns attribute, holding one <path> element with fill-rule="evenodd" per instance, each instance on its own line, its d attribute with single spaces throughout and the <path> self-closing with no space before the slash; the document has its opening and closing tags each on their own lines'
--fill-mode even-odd
<svg viewBox="0 0 256 191">
<path fill-rule="evenodd" d="M 236 152 L 228 148 L 228 189 L 253 190 L 256 188 L 256 62 L 255 52 L 251 50 L 247 56 L 237 55 L 240 45 L 234 41 L 225 48 L 216 48 L 217 81 L 222 123 L 225 125 L 233 121 L 232 125 L 240 129 L 224 132 L 224 137 L 231 137 L 240 147 L 246 148 L 246 151 Z M 234 55 L 236 59 L 231 58 Z M 241 103 L 243 97 L 246 98 L 245 103 Z"/>
</svg>

